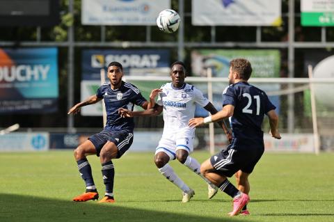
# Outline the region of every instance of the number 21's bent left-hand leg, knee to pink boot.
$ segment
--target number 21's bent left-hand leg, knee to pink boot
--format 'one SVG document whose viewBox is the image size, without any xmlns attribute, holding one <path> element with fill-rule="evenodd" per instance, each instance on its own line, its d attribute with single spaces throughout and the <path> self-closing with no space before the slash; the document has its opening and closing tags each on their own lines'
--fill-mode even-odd
<svg viewBox="0 0 334 222">
<path fill-rule="evenodd" d="M 215 184 L 219 189 L 233 198 L 233 210 L 229 213 L 230 216 L 236 216 L 241 212 L 241 209 L 249 201 L 246 193 L 242 193 L 233 184 L 228 181 L 228 178 L 222 175 L 212 166 L 210 159 L 207 159 L 200 166 L 200 173 L 209 181 Z"/>
</svg>

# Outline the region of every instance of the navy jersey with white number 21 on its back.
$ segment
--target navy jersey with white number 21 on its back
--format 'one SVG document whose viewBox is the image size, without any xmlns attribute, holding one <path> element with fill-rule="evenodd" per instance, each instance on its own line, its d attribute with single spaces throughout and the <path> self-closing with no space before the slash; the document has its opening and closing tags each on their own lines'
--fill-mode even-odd
<svg viewBox="0 0 334 222">
<path fill-rule="evenodd" d="M 246 82 L 231 84 L 223 92 L 223 106 L 234 106 L 230 118 L 234 138 L 263 141 L 261 125 L 264 114 L 276 109 L 264 91 Z"/>
</svg>

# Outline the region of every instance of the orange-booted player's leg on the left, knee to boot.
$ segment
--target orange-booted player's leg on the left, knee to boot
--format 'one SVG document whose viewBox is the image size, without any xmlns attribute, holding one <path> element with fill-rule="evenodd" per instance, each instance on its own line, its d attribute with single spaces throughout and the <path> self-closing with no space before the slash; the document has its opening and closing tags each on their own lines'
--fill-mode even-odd
<svg viewBox="0 0 334 222">
<path fill-rule="evenodd" d="M 92 168 L 90 168 L 90 164 L 86 158 L 86 156 L 90 154 L 96 154 L 96 150 L 93 143 L 89 140 L 85 141 L 74 150 L 74 158 L 77 161 L 79 173 L 86 183 L 86 192 L 73 198 L 76 202 L 97 200 L 99 198 L 93 180 Z"/>
</svg>

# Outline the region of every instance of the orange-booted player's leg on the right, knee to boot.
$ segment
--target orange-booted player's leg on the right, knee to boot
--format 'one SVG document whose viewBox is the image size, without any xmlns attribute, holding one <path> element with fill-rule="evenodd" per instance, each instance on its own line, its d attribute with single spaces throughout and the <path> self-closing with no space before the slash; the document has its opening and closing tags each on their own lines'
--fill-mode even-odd
<svg viewBox="0 0 334 222">
<path fill-rule="evenodd" d="M 106 186 L 106 193 L 104 198 L 99 203 L 114 203 L 113 198 L 113 181 L 115 177 L 115 169 L 113 168 L 113 162 L 111 159 L 116 158 L 118 155 L 118 148 L 115 143 L 110 141 L 104 144 L 100 152 L 100 162 L 102 164 L 102 177 L 104 185 Z"/>
</svg>

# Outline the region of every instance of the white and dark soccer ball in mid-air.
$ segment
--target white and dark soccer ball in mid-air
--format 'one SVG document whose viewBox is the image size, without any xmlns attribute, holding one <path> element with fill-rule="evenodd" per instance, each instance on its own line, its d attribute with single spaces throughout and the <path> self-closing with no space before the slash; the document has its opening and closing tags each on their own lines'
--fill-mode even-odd
<svg viewBox="0 0 334 222">
<path fill-rule="evenodd" d="M 179 29 L 180 15 L 172 9 L 165 9 L 159 13 L 157 25 L 161 31 L 165 33 L 173 33 Z"/>
</svg>

